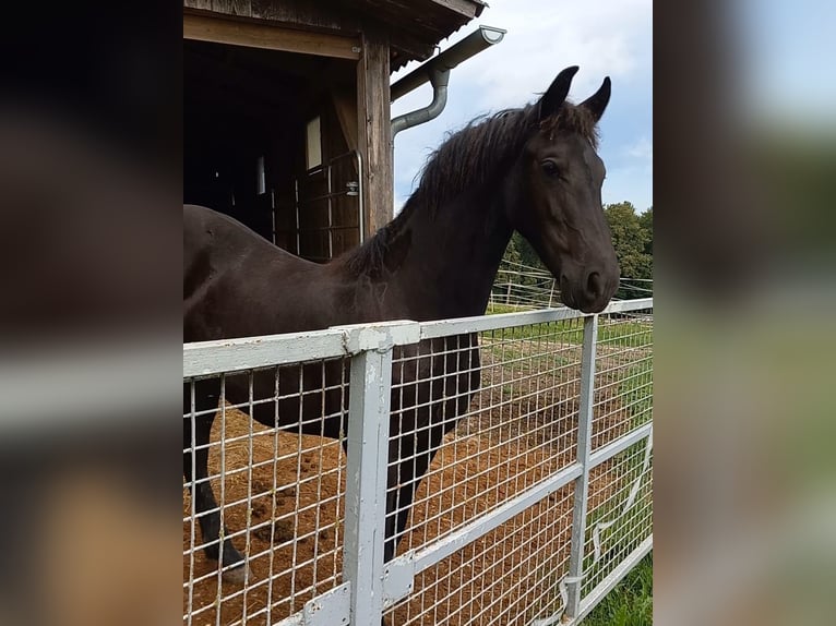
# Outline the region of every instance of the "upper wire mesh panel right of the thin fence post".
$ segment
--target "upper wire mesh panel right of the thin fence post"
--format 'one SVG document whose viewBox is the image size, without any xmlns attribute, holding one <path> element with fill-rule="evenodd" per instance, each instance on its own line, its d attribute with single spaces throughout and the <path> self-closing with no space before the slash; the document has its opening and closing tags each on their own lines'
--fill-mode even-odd
<svg viewBox="0 0 836 626">
<path fill-rule="evenodd" d="M 593 407 L 593 450 L 653 419 L 650 309 L 599 317 Z"/>
</svg>

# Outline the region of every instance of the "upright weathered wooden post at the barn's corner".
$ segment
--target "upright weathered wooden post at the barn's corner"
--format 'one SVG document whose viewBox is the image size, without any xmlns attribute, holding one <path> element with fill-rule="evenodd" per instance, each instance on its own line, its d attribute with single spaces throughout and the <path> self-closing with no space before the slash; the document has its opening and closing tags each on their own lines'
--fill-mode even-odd
<svg viewBox="0 0 836 626">
<path fill-rule="evenodd" d="M 363 160 L 366 238 L 394 217 L 389 35 L 367 29 L 357 63 L 357 145 Z"/>
</svg>

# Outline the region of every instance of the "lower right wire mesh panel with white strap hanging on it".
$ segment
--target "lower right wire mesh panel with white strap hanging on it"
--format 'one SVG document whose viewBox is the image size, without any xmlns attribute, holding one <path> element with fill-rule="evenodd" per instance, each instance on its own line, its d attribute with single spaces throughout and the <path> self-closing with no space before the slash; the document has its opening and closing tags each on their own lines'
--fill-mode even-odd
<svg viewBox="0 0 836 626">
<path fill-rule="evenodd" d="M 653 533 L 653 453 L 644 437 L 589 472 L 583 595 Z"/>
</svg>

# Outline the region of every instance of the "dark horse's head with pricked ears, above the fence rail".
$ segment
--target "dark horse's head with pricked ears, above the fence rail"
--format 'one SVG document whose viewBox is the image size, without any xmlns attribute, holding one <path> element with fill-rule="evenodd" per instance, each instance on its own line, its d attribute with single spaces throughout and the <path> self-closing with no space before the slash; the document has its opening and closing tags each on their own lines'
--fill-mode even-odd
<svg viewBox="0 0 836 626">
<path fill-rule="evenodd" d="M 619 265 L 601 207 L 604 161 L 596 154 L 596 124 L 610 98 L 610 81 L 580 105 L 565 101 L 576 67 L 558 74 L 530 109 L 536 131 L 515 177 L 513 226 L 560 281 L 563 303 L 601 311 L 619 286 Z"/>
</svg>

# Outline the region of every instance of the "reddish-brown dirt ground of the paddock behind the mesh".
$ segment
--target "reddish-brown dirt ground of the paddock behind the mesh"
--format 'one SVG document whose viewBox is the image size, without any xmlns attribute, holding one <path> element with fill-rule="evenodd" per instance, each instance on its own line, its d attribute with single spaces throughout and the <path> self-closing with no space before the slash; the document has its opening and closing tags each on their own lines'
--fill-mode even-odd
<svg viewBox="0 0 836 626">
<path fill-rule="evenodd" d="M 573 458 L 576 389 L 561 385 L 576 380 L 576 369 L 557 376 L 529 372 L 527 388 L 517 385 L 509 394 L 506 385 L 490 384 L 489 359 L 485 365 L 489 384 L 478 401 L 489 409 L 463 420 L 445 438 L 418 490 L 398 553 L 449 534 Z M 597 400 L 607 409 L 595 424 L 595 447 L 617 437 L 630 421 L 616 393 L 602 394 Z M 202 550 L 192 552 L 192 535 L 196 546 L 201 535 L 199 529 L 192 532 L 191 498 L 183 489 L 183 615 L 192 615 L 191 622 L 183 619 L 216 624 L 220 611 L 223 625 L 273 624 L 342 582 L 345 455 L 336 441 L 274 433 L 235 409 L 226 411 L 225 421 L 224 467 L 238 471 L 227 474 L 223 501 L 218 479 L 213 490 L 218 502 L 228 503 L 225 525 L 239 533 L 236 546 L 251 555 L 252 578 L 246 588 L 222 582 L 216 564 Z M 213 442 L 219 441 L 222 425 L 216 419 Z M 213 447 L 213 475 L 220 464 L 219 446 Z M 594 474 L 600 479 L 607 471 L 605 464 Z M 613 475 L 612 489 L 597 490 L 596 497 L 608 497 L 618 481 Z M 572 494 L 573 485 L 566 485 L 419 575 L 415 593 L 393 607 L 390 623 L 522 625 L 558 610 L 558 582 L 569 566 Z"/>
</svg>

